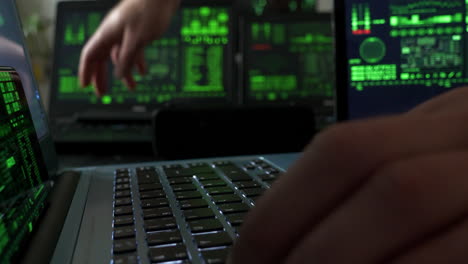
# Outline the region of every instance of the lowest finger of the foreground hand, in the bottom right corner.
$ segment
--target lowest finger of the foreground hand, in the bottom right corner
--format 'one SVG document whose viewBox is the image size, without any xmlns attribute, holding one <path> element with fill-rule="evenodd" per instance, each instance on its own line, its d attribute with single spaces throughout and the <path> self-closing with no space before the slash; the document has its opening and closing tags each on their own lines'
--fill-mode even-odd
<svg viewBox="0 0 468 264">
<path fill-rule="evenodd" d="M 465 218 L 464 221 L 390 263 L 466 263 L 468 258 L 466 245 L 468 245 L 468 220 Z"/>
</svg>

